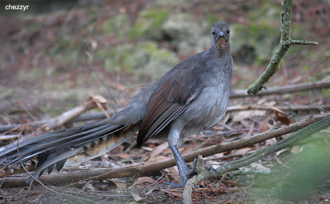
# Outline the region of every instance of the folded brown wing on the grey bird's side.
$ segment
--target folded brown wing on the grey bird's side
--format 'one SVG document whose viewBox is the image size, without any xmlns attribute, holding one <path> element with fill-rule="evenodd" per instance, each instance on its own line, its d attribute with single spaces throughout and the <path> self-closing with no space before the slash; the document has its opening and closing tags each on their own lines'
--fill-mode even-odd
<svg viewBox="0 0 330 204">
<path fill-rule="evenodd" d="M 141 147 L 145 141 L 162 131 L 168 123 L 176 119 L 185 110 L 189 102 L 199 95 L 204 87 L 203 82 L 198 77 L 200 70 L 196 68 L 181 70 L 180 75 L 176 77 L 175 73 L 172 74 L 158 87 L 150 99 L 142 121 L 137 137 L 138 147 Z M 184 72 L 189 75 L 184 74 Z"/>
</svg>

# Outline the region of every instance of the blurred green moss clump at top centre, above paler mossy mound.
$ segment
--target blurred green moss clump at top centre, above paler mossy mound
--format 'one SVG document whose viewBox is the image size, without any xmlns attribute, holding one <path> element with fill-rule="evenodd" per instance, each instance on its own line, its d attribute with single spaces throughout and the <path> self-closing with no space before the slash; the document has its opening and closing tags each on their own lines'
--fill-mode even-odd
<svg viewBox="0 0 330 204">
<path fill-rule="evenodd" d="M 142 11 L 129 34 L 130 38 L 161 38 L 161 27 L 169 14 L 170 12 L 164 9 Z"/>
</svg>

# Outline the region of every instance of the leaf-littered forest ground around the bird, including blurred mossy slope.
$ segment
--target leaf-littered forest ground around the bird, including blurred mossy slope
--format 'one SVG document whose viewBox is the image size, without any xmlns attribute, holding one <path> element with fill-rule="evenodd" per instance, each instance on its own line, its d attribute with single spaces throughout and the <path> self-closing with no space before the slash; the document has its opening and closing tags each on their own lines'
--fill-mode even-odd
<svg viewBox="0 0 330 204">
<path fill-rule="evenodd" d="M 250 7 L 250 1 L 244 0 L 235 1 L 231 5 L 219 3 L 216 6 L 215 0 L 208 3 L 182 2 L 169 1 L 163 4 L 151 0 L 110 0 L 42 14 L 29 13 L 15 17 L 1 14 L 0 126 L 27 124 L 20 128 L 23 132 L 22 140 L 24 137 L 40 135 L 46 132 L 43 125 L 34 128 L 30 124 L 51 119 L 72 109 L 82 104 L 91 94 L 102 95 L 107 99 L 105 109 L 125 107 L 141 87 L 198 50 L 207 49 L 208 41 L 205 45 L 203 39 L 204 35 L 209 37 L 209 30 L 205 31 L 206 34 L 199 33 L 197 38 L 200 42 L 197 44 L 194 44 L 194 38 L 191 41 L 187 39 L 187 44 L 180 43 L 186 38 L 185 35 L 180 36 L 180 32 L 175 35 L 164 32 L 166 28 L 173 32 L 181 31 L 170 27 L 171 16 L 176 13 L 188 15 L 182 17 L 188 19 L 187 23 L 192 22 L 186 28 L 194 29 L 194 23 L 200 22 L 200 25 L 205 24 L 209 29 L 211 22 L 216 19 L 233 25 L 233 89 L 247 89 L 264 71 L 267 60 L 277 48 L 281 19 L 280 16 L 272 17 L 272 12 L 277 13 L 278 9 L 281 11 L 281 1 L 265 3 L 254 0 L 255 9 Z M 194 18 L 190 19 L 192 13 Z M 258 15 L 266 15 L 263 20 L 269 20 L 269 25 L 261 22 Z M 329 1 L 295 2 L 293 38 L 318 41 L 319 46 L 292 46 L 284 56 L 281 68 L 268 83 L 269 87 L 330 80 L 329 16 Z M 205 17 L 207 20 L 201 21 Z M 154 20 L 150 22 L 148 18 Z M 118 25 L 116 22 L 119 22 Z M 139 30 L 141 25 L 139 27 L 138 23 L 159 25 Z M 275 31 L 273 28 L 276 28 Z M 246 32 L 255 34 L 248 35 Z M 263 36 L 258 35 L 263 32 Z M 155 35 L 148 35 L 150 33 Z M 274 35 L 275 40 L 270 39 L 268 34 Z M 251 38 L 245 39 L 245 35 Z M 237 42 L 240 38 L 245 40 L 241 44 Z M 269 38 L 270 42 L 264 38 Z M 244 46 L 247 42 L 250 44 Z M 258 47 L 258 44 L 264 47 Z M 235 47 L 245 50 L 240 51 Z M 270 54 L 265 53 L 267 49 Z M 142 54 L 138 53 L 139 50 L 142 50 Z M 120 57 L 116 58 L 117 55 Z M 160 61 L 161 65 L 150 59 Z M 157 70 L 153 72 L 149 68 Z M 229 106 L 293 107 L 327 104 L 330 104 L 329 88 L 234 98 L 230 100 Z M 89 110 L 90 113 L 99 111 L 98 108 Z M 284 127 L 287 121 L 294 123 L 309 115 L 327 113 L 329 109 L 281 111 L 281 117 L 274 112 L 259 108 L 230 111 L 211 130 L 185 138 L 179 150 L 182 154 L 189 153 L 214 144 L 253 136 L 267 131 L 275 123 L 281 123 Z M 60 129 L 90 122 L 93 121 L 71 123 Z M 228 172 L 223 178 L 201 182 L 193 191 L 193 201 L 206 204 L 330 204 L 330 158 L 327 156 L 330 153 L 329 132 L 328 129 L 317 133 L 250 166 Z M 18 136 L 19 131 L 6 131 L 0 138 L 5 135 Z M 206 157 L 205 165 L 217 168 L 222 163 L 241 158 L 285 137 Z M 109 153 L 78 166 L 66 167 L 63 171 L 120 168 L 172 157 L 164 141 L 149 140 L 143 148 L 137 149 L 134 139 L 136 137 Z M 1 139 L 0 146 L 4 148 L 15 142 Z M 157 154 L 153 151 L 155 148 Z M 69 185 L 46 184 L 47 188 L 40 185 L 1 187 L 0 183 L 0 203 L 180 204 L 183 189 L 169 189 L 161 185 L 177 178 L 177 170 L 169 168 L 145 177 L 90 180 Z M 6 177 L 1 179 L 3 181 Z"/>
</svg>

